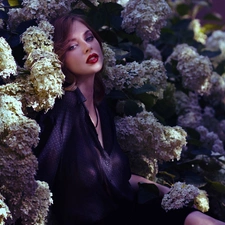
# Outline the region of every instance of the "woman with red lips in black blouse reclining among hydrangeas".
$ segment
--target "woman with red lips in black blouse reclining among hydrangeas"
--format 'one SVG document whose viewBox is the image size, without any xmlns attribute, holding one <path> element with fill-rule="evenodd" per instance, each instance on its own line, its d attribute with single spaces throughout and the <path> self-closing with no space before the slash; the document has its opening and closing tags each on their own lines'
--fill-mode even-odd
<svg viewBox="0 0 225 225">
<path fill-rule="evenodd" d="M 78 224 L 224 224 L 194 209 L 166 213 L 160 197 L 135 203 L 138 183 L 120 149 L 100 79 L 100 38 L 78 15 L 54 22 L 55 52 L 65 73 L 65 95 L 40 114 L 37 179 L 49 183 L 52 212 L 60 225 Z M 168 188 L 155 184 L 160 196 Z M 54 223 L 55 224 L 55 223 Z"/>
</svg>

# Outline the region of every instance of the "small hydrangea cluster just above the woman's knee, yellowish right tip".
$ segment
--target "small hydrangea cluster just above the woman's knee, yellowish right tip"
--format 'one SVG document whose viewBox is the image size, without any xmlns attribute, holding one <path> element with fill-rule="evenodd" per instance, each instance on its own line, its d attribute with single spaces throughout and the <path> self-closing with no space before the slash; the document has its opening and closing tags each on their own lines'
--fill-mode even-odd
<svg viewBox="0 0 225 225">
<path fill-rule="evenodd" d="M 191 184 L 176 182 L 165 194 L 162 202 L 165 211 L 180 209 L 183 207 L 197 207 L 202 212 L 209 209 L 209 201 L 205 191 L 199 190 Z"/>
</svg>

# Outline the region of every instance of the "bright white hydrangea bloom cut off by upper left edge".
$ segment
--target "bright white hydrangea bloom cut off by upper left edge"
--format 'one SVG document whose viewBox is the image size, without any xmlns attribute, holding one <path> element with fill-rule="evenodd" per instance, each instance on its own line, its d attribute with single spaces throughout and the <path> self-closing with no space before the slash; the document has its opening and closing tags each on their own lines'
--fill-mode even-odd
<svg viewBox="0 0 225 225">
<path fill-rule="evenodd" d="M 0 37 L 0 76 L 3 79 L 17 74 L 17 65 L 12 49 L 3 37 Z"/>
</svg>

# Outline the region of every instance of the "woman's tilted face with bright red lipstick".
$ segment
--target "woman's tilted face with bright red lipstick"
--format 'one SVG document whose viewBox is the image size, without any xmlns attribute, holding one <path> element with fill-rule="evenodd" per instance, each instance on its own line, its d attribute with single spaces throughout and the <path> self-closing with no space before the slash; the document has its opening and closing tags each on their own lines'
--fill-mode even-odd
<svg viewBox="0 0 225 225">
<path fill-rule="evenodd" d="M 77 78 L 94 75 L 102 69 L 103 53 L 100 44 L 79 21 L 75 21 L 71 27 L 64 65 Z"/>
</svg>

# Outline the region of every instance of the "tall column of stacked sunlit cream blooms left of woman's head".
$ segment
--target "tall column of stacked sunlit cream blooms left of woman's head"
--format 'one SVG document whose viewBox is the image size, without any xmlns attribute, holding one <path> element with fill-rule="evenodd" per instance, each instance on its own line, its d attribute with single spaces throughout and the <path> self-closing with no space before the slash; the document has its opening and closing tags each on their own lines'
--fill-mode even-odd
<svg viewBox="0 0 225 225">
<path fill-rule="evenodd" d="M 24 50 L 27 53 L 24 68 L 30 71 L 25 80 L 24 98 L 27 105 L 39 111 L 52 108 L 55 98 L 63 94 L 62 84 L 64 74 L 61 62 L 53 52 L 53 27 L 46 21 L 41 21 L 38 27 L 30 27 L 22 35 Z"/>
</svg>

